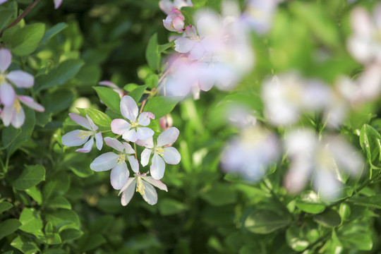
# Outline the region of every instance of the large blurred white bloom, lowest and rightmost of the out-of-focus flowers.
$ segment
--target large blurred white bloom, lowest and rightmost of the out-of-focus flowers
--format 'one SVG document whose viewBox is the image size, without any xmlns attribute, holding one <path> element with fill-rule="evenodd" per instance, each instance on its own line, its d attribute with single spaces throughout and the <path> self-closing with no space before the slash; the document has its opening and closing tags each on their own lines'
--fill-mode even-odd
<svg viewBox="0 0 381 254">
<path fill-rule="evenodd" d="M 291 159 L 284 186 L 297 193 L 313 177 L 313 186 L 325 200 L 340 196 L 340 188 L 347 174 L 358 175 L 363 158 L 341 137 L 327 136 L 322 140 L 310 130 L 291 131 L 285 138 L 285 149 Z"/>
</svg>

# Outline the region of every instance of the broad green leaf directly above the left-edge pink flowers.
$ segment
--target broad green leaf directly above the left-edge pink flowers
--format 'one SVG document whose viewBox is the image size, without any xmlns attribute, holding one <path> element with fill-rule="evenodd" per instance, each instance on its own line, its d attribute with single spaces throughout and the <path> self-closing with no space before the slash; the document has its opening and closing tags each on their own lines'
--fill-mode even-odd
<svg viewBox="0 0 381 254">
<path fill-rule="evenodd" d="M 4 32 L 3 38 L 8 49 L 13 54 L 25 56 L 37 49 L 37 45 L 44 36 L 45 25 L 35 23 L 25 25 L 23 28 L 14 26 Z"/>
</svg>

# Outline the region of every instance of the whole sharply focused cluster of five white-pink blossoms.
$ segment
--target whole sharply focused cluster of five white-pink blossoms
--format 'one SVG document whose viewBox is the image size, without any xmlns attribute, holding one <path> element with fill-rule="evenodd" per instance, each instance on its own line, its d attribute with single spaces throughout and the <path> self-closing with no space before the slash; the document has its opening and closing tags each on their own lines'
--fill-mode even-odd
<svg viewBox="0 0 381 254">
<path fill-rule="evenodd" d="M 155 131 L 147 127 L 150 125 L 150 121 L 155 119 L 154 114 L 141 112 L 142 109 L 139 111 L 138 104 L 128 95 L 121 98 L 120 110 L 125 119 L 114 119 L 110 126 L 111 131 L 117 136 L 103 139 L 102 132 L 97 131 L 98 127 L 88 115 L 83 117 L 78 114 L 69 114 L 75 123 L 83 126 L 87 131 L 75 130 L 66 133 L 62 137 L 62 144 L 69 147 L 85 144 L 83 148 L 76 151 L 90 152 L 94 145 L 94 138 L 98 150 L 102 149 L 104 140 L 104 143 L 116 150 L 116 152 L 105 152 L 99 155 L 90 164 L 90 169 L 94 171 L 111 169 L 111 186 L 116 190 L 120 190 L 119 194 L 122 193 L 122 205 L 128 204 L 134 191 L 139 192 L 150 205 L 155 205 L 157 192 L 152 186 L 167 191 L 167 186 L 162 181 L 159 181 L 164 176 L 165 164 L 179 164 L 181 159 L 181 155 L 176 148 L 171 147 L 171 144 L 179 136 L 179 130 L 175 127 L 167 128 L 166 131 L 158 135 L 157 142 L 154 143 Z M 123 143 L 117 139 L 119 136 L 124 140 Z M 135 149 L 131 146 L 131 143 L 135 143 Z M 135 145 L 145 147 L 140 155 L 140 164 L 145 167 L 151 162 L 150 171 L 147 171 L 147 173 L 142 174 L 139 171 Z M 126 161 L 128 161 L 134 173 L 133 177 L 129 177 L 130 171 Z M 147 176 L 148 173 L 151 176 Z"/>
</svg>

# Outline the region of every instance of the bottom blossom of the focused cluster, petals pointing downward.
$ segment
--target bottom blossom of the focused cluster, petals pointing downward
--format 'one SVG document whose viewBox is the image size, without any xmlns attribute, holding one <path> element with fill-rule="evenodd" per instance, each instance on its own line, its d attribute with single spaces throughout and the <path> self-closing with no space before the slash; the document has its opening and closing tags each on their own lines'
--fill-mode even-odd
<svg viewBox="0 0 381 254">
<path fill-rule="evenodd" d="M 142 195 L 145 202 L 155 205 L 157 203 L 157 192 L 153 186 L 168 192 L 167 186 L 162 181 L 155 180 L 151 176 L 147 176 L 147 174 L 134 174 L 134 177 L 128 178 L 126 184 L 119 191 L 119 195 L 122 193 L 121 204 L 127 205 L 136 190 Z"/>
</svg>

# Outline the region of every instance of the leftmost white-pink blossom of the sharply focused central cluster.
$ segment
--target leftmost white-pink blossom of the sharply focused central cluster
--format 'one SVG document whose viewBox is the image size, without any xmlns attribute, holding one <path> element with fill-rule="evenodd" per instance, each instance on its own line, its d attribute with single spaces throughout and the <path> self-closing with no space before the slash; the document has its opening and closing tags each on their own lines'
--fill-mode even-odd
<svg viewBox="0 0 381 254">
<path fill-rule="evenodd" d="M 73 147 L 85 144 L 82 148 L 75 150 L 75 152 L 90 152 L 92 145 L 94 145 L 95 137 L 97 148 L 98 150 L 101 150 L 103 146 L 102 133 L 100 131 L 97 132 L 98 126 L 95 125 L 90 117 L 87 115 L 86 117 L 83 117 L 75 113 L 70 113 L 69 116 L 75 123 L 87 128 L 89 131 L 75 130 L 66 133 L 62 136 L 62 145 Z"/>
</svg>

